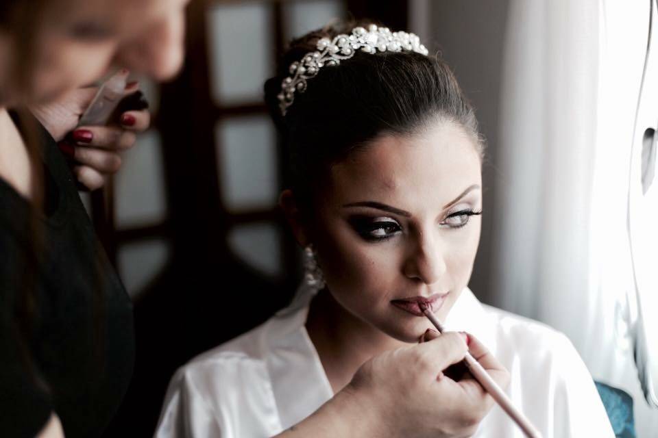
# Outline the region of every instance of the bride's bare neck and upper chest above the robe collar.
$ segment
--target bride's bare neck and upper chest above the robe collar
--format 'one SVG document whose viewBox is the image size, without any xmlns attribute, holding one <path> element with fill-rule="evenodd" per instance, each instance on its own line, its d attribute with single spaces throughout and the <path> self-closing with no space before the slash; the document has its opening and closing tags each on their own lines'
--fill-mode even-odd
<svg viewBox="0 0 658 438">
<path fill-rule="evenodd" d="M 365 361 L 404 343 L 345 310 L 326 290 L 313 299 L 306 330 L 334 394 L 350 383 Z"/>
</svg>

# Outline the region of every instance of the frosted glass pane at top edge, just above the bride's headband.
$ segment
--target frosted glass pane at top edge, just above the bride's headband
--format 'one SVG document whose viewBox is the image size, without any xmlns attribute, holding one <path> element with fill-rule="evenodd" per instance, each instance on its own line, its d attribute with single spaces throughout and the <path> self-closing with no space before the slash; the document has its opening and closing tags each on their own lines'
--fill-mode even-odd
<svg viewBox="0 0 658 438">
<path fill-rule="evenodd" d="M 341 1 L 286 1 L 284 2 L 286 40 L 300 37 L 306 32 L 324 27 L 336 18 L 343 18 Z"/>
</svg>

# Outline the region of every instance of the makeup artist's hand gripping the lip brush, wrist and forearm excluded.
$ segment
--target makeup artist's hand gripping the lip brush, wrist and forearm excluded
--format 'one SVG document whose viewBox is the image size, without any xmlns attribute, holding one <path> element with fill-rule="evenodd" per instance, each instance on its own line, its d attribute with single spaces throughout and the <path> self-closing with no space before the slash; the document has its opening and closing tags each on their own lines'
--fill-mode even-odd
<svg viewBox="0 0 658 438">
<path fill-rule="evenodd" d="M 393 431 L 387 435 L 391 437 L 470 437 L 475 433 L 493 401 L 476 381 L 456 382 L 443 374 L 469 350 L 466 339 L 460 333 L 446 333 L 363 364 L 350 385 L 369 394 L 369 404 L 378 404 L 382 433 Z M 471 344 L 481 348 L 476 341 Z M 476 357 L 483 355 L 478 353 Z M 498 372 L 502 368 L 491 362 L 495 361 L 491 355 L 484 358 L 485 369 Z M 500 373 L 496 380 L 502 377 Z"/>
</svg>

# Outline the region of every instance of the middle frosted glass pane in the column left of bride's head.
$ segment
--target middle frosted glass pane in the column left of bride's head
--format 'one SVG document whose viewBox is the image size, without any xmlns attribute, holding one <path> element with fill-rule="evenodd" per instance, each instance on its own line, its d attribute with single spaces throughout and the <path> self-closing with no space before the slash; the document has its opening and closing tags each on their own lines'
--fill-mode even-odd
<svg viewBox="0 0 658 438">
<path fill-rule="evenodd" d="M 217 168 L 228 209 L 271 207 L 278 196 L 276 133 L 269 118 L 249 116 L 217 124 Z"/>
</svg>

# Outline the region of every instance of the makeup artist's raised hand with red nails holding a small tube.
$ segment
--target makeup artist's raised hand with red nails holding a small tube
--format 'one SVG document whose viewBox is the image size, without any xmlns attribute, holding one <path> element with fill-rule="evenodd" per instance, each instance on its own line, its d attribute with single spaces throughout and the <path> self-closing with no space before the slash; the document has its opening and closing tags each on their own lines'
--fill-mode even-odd
<svg viewBox="0 0 658 438">
<path fill-rule="evenodd" d="M 137 92 L 138 88 L 138 83 L 129 83 L 125 95 Z M 75 177 L 87 190 L 103 187 L 106 178 L 121 168 L 121 151 L 130 149 L 136 133 L 145 131 L 151 123 L 149 111 L 141 109 L 123 112 L 116 125 L 75 129 L 97 90 L 96 87 L 79 88 L 56 102 L 29 107 L 58 142 L 62 153 L 69 157 Z M 73 129 L 75 131 L 71 132 Z"/>
</svg>

